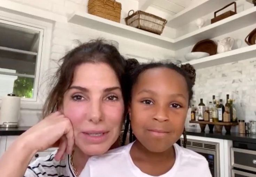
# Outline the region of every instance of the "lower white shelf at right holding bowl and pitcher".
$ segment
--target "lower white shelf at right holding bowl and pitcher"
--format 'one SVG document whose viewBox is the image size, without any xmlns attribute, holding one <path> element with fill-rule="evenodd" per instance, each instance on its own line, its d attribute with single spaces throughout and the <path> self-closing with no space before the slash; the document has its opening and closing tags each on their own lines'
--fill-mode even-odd
<svg viewBox="0 0 256 177">
<path fill-rule="evenodd" d="M 231 50 L 224 53 L 215 54 L 209 57 L 200 58 L 185 62 L 183 64 L 191 64 L 195 69 L 206 68 L 210 66 L 222 65 L 230 62 L 246 60 L 256 57 L 256 44 L 240 49 Z"/>
</svg>

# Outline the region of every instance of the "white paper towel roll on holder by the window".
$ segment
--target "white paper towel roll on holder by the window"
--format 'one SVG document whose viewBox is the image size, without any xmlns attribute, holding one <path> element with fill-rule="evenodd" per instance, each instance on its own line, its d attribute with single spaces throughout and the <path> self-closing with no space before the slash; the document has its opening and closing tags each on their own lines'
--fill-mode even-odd
<svg viewBox="0 0 256 177">
<path fill-rule="evenodd" d="M 3 96 L 0 112 L 0 126 L 14 127 L 18 125 L 20 117 L 21 98 L 13 94 Z"/>
</svg>

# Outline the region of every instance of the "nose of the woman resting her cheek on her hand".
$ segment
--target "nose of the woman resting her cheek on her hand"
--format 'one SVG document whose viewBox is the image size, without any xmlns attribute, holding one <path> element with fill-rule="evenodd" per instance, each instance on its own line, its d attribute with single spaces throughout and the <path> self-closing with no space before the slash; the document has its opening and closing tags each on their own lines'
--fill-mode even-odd
<svg viewBox="0 0 256 177">
<path fill-rule="evenodd" d="M 90 111 L 90 121 L 94 124 L 98 124 L 102 121 L 102 113 L 101 113 L 101 103 L 99 101 L 94 101 L 91 104 L 91 111 Z"/>
</svg>

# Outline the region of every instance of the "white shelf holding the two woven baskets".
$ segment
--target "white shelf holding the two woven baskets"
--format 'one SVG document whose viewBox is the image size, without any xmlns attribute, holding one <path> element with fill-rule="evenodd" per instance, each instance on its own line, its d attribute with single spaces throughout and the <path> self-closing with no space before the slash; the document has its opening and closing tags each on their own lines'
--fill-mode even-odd
<svg viewBox="0 0 256 177">
<path fill-rule="evenodd" d="M 172 49 L 173 47 L 174 40 L 168 37 L 160 36 L 83 12 L 75 12 L 75 14 L 68 18 L 68 22 L 166 49 Z"/>
</svg>

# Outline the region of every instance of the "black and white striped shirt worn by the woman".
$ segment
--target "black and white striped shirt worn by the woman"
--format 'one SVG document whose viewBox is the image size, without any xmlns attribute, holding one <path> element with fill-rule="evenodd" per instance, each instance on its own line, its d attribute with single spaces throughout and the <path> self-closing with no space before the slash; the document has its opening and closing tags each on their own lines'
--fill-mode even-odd
<svg viewBox="0 0 256 177">
<path fill-rule="evenodd" d="M 27 168 L 24 177 L 76 177 L 70 164 L 70 157 L 66 155 L 64 160 L 54 159 L 57 151 L 46 157 L 39 157 Z"/>
</svg>

